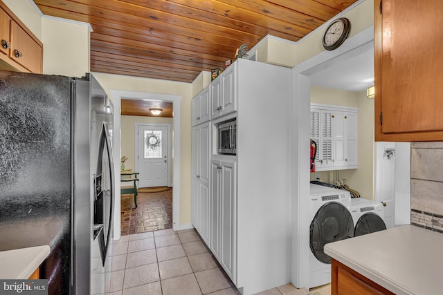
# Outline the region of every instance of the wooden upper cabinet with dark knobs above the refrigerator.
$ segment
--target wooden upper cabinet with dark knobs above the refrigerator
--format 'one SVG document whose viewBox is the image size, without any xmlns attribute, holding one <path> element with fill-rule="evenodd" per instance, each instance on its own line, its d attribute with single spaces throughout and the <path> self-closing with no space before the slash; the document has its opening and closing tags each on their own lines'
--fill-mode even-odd
<svg viewBox="0 0 443 295">
<path fill-rule="evenodd" d="M 42 42 L 1 1 L 0 40 L 0 68 L 42 73 Z"/>
</svg>

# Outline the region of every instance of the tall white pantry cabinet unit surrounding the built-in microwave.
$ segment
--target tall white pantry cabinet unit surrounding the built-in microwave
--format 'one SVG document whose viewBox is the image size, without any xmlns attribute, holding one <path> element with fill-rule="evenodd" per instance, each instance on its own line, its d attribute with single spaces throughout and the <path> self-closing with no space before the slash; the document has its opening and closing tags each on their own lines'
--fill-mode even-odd
<svg viewBox="0 0 443 295">
<path fill-rule="evenodd" d="M 289 283 L 291 69 L 238 59 L 208 89 L 210 196 L 208 203 L 201 198 L 194 178 L 202 163 L 195 158 L 206 157 L 195 148 L 194 137 L 202 138 L 198 125 L 192 133 L 192 222 L 242 294 Z M 217 124 L 233 118 L 237 155 L 218 154 Z M 201 218 L 206 210 L 208 233 Z"/>
</svg>

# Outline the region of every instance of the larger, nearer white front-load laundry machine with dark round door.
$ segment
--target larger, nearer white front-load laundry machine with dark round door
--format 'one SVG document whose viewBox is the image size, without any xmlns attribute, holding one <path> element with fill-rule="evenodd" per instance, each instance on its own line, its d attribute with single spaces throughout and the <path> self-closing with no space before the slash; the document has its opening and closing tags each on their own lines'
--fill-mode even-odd
<svg viewBox="0 0 443 295">
<path fill-rule="evenodd" d="M 331 258 L 323 247 L 354 236 L 354 222 L 348 208 L 349 191 L 311 184 L 309 218 L 309 287 L 331 282 Z"/>
</svg>

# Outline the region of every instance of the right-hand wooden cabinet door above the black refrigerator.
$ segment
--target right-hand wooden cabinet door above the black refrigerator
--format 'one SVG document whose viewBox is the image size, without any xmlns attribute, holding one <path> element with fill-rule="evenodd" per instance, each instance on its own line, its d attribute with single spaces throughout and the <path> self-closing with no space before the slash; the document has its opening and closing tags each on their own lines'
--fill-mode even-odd
<svg viewBox="0 0 443 295">
<path fill-rule="evenodd" d="M 11 21 L 10 58 L 30 72 L 42 72 L 42 47 L 15 21 Z"/>
</svg>

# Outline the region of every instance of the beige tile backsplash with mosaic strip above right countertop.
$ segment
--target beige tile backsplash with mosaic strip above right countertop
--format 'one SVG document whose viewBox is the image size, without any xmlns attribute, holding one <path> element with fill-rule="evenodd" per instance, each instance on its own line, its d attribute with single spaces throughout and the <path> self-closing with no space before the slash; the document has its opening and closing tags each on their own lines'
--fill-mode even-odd
<svg viewBox="0 0 443 295">
<path fill-rule="evenodd" d="M 443 233 L 443 142 L 412 143 L 410 166 L 410 222 Z"/>
</svg>

